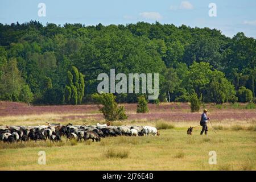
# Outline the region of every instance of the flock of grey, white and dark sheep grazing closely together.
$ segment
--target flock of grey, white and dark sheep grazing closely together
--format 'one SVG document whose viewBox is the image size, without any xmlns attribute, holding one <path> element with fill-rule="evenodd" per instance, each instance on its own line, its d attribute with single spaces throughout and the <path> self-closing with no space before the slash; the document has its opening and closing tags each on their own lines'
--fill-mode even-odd
<svg viewBox="0 0 256 182">
<path fill-rule="evenodd" d="M 27 142 L 28 140 L 47 140 L 50 142 L 61 141 L 61 137 L 82 141 L 92 139 L 99 142 L 101 138 L 126 136 L 160 135 L 159 131 L 152 126 L 110 126 L 110 122 L 104 125 L 60 125 L 50 124 L 38 126 L 0 126 L 0 140 L 7 143 Z"/>
</svg>

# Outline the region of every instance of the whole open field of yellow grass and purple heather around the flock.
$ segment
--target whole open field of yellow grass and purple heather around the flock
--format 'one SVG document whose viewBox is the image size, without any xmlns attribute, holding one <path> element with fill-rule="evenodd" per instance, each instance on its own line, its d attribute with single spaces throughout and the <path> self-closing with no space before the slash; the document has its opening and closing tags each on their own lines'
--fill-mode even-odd
<svg viewBox="0 0 256 182">
<path fill-rule="evenodd" d="M 3 105 L 3 104 L 2 104 Z M 1 106 L 1 104 L 0 104 Z M 189 126 L 199 123 L 200 113 L 189 113 L 185 104 L 150 105 L 150 113 L 136 114 L 134 105 L 125 105 L 131 116 L 113 125 L 150 125 L 160 127 L 159 137 L 110 137 L 101 142 L 28 142 L 0 143 L 0 170 L 255 170 L 256 110 L 219 109 L 207 105 L 213 126 L 208 135 L 200 135 L 200 127 L 187 135 Z M 18 110 L 22 110 L 19 108 Z M 26 107 L 26 106 L 24 106 Z M 40 106 L 36 106 L 40 110 Z M 38 108 L 39 107 L 39 108 Z M 51 106 L 49 106 L 51 107 Z M 61 107 L 61 106 L 60 106 Z M 65 106 L 64 106 L 65 107 Z M 88 106 L 84 106 L 88 107 Z M 166 107 L 167 109 L 164 109 Z M 174 107 L 174 109 L 172 109 Z M 9 108 L 9 110 L 8 110 Z M 0 107 L 0 125 L 37 125 L 44 122 L 91 123 L 97 109 L 65 112 L 33 110 L 26 115 L 11 113 L 11 107 Z M 94 107 L 93 107 L 94 108 Z M 96 107 L 97 108 L 97 107 Z M 15 107 L 17 109 L 17 107 Z M 44 110 L 45 107 L 42 106 Z M 156 114 L 158 119 L 152 119 Z M 166 114 L 170 114 L 167 115 Z M 75 117 L 71 117 L 74 116 Z M 90 117 L 84 117 L 90 115 Z M 96 115 L 96 117 L 93 117 Z M 101 114 L 100 114 L 101 115 Z M 221 119 L 223 115 L 224 119 Z M 63 117 L 66 117 L 63 119 Z M 188 119 L 186 119 L 188 118 Z M 190 119 L 193 118 L 193 119 Z M 63 139 L 64 140 L 64 139 Z M 38 152 L 46 152 L 46 165 L 38 164 Z M 210 165 L 209 151 L 216 151 L 217 164 Z"/>
</svg>

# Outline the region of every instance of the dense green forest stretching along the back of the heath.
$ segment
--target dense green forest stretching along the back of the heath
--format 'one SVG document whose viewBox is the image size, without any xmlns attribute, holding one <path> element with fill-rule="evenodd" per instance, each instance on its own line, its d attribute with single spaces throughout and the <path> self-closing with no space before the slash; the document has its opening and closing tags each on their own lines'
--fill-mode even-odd
<svg viewBox="0 0 256 182">
<path fill-rule="evenodd" d="M 159 100 L 249 102 L 255 97 L 256 42 L 210 28 L 138 22 L 64 26 L 0 23 L 0 100 L 34 104 L 92 101 L 99 73 L 159 73 Z M 137 102 L 137 94 L 117 94 Z"/>
</svg>

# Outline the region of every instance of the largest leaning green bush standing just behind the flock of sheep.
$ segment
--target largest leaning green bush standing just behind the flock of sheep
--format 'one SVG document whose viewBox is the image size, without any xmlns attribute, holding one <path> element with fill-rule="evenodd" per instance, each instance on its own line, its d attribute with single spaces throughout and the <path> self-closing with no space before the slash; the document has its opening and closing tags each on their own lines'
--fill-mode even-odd
<svg viewBox="0 0 256 182">
<path fill-rule="evenodd" d="M 117 102 L 115 102 L 115 96 L 112 93 L 96 93 L 92 95 L 92 98 L 97 102 L 97 104 L 103 105 L 103 107 L 98 107 L 106 121 L 127 119 L 125 109 L 123 109 L 123 106 L 117 105 Z"/>
</svg>

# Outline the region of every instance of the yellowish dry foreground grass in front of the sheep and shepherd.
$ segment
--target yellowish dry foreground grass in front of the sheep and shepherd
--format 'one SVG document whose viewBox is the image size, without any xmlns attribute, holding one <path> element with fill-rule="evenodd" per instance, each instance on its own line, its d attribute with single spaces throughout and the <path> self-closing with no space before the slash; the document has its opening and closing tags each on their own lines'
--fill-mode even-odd
<svg viewBox="0 0 256 182">
<path fill-rule="evenodd" d="M 101 142 L 28 142 L 3 144 L 0 170 L 255 170 L 255 131 L 209 129 L 162 130 L 159 137 L 109 137 Z M 64 140 L 64 139 L 63 139 Z M 59 146 L 60 145 L 60 146 Z M 5 147 L 2 147 L 5 146 Z M 9 147 L 6 147 L 9 146 Z M 47 164 L 39 165 L 38 152 L 46 151 Z M 209 151 L 217 165 L 209 165 Z"/>
</svg>

